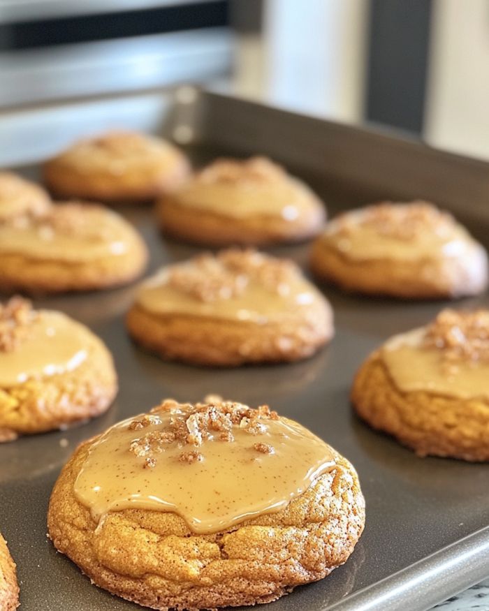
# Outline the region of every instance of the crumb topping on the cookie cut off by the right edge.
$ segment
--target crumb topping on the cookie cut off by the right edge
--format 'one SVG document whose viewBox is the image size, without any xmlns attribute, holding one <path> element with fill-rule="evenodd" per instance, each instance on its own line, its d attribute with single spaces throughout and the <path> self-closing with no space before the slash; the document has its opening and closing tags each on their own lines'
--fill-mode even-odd
<svg viewBox="0 0 489 611">
<path fill-rule="evenodd" d="M 441 351 L 448 363 L 489 363 L 489 311 L 441 311 L 428 326 L 424 341 L 425 347 Z"/>
</svg>

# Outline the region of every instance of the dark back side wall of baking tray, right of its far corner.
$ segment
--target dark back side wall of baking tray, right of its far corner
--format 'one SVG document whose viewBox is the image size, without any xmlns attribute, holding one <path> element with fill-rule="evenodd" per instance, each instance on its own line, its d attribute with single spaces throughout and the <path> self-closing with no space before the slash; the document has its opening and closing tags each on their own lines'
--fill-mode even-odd
<svg viewBox="0 0 489 611">
<path fill-rule="evenodd" d="M 404 201 L 423 198 L 451 211 L 460 209 L 466 216 L 486 214 L 489 221 L 489 159 L 444 151 L 405 131 L 363 123 L 337 122 L 323 117 L 305 115 L 270 103 L 240 98 L 213 89 L 196 89 L 211 121 L 219 122 L 220 130 L 212 131 L 217 145 L 238 146 L 237 135 L 251 131 L 256 142 L 267 142 L 267 154 L 282 158 L 292 167 L 340 179 L 344 184 L 361 185 L 377 190 L 379 185 L 388 199 L 390 191 L 402 191 Z M 181 108 L 182 105 L 180 105 Z M 196 119 L 196 137 L 209 136 L 202 112 Z M 253 119 L 261 116 L 262 131 L 253 130 Z M 178 114 L 176 115 L 178 120 Z M 284 134 L 277 124 L 286 121 L 293 138 L 284 144 Z M 233 134 L 233 139 L 229 135 Z M 290 134 L 289 134 L 290 135 Z M 281 140 L 282 139 L 282 140 Z M 280 142 L 278 143 L 278 141 Z M 302 142 L 315 147 L 316 156 L 304 161 Z M 369 156 L 374 147 L 377 156 Z M 245 148 L 245 147 L 243 147 Z M 380 154 L 379 154 L 380 152 Z M 307 151 L 306 151 L 307 155 Z M 347 159 L 347 162 L 345 161 Z M 365 161 L 366 160 L 366 161 Z M 411 174 L 404 172 L 409 160 Z M 430 171 L 427 172 L 427 164 Z M 400 196 L 398 196 L 400 197 Z M 397 201 L 401 201 L 397 198 Z M 364 202 L 368 203 L 368 202 Z"/>
</svg>

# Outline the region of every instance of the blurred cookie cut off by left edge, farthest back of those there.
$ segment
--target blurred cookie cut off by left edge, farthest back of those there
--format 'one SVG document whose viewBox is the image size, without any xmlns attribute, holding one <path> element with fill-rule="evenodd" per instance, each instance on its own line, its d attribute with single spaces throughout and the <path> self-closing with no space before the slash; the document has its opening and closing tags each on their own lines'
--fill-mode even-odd
<svg viewBox="0 0 489 611">
<path fill-rule="evenodd" d="M 0 170 L 0 223 L 25 214 L 44 214 L 50 205 L 50 197 L 41 186 Z"/>
</svg>

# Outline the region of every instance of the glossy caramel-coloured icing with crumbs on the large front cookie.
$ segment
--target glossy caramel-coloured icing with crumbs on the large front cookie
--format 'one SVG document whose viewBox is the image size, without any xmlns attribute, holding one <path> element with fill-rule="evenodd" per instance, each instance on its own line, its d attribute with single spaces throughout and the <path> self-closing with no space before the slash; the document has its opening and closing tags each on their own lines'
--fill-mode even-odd
<svg viewBox="0 0 489 611">
<path fill-rule="evenodd" d="M 270 418 L 263 407 L 258 412 L 230 402 L 194 408 L 167 400 L 95 441 L 75 495 L 96 520 L 125 508 L 170 511 L 196 533 L 275 513 L 329 471 L 334 458 L 297 422 L 273 412 Z M 210 425 L 199 428 L 205 418 Z M 184 434 L 172 440 L 175 429 Z"/>
</svg>

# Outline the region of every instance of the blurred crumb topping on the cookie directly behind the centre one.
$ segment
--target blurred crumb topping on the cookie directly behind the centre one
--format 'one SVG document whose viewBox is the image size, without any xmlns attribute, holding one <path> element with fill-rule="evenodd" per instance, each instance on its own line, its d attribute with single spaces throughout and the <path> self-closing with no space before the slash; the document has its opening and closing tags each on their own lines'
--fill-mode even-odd
<svg viewBox="0 0 489 611">
<path fill-rule="evenodd" d="M 286 177 L 284 169 L 265 157 L 251 157 L 245 161 L 217 159 L 196 177 L 202 183 L 260 184 L 272 183 Z"/>
</svg>

